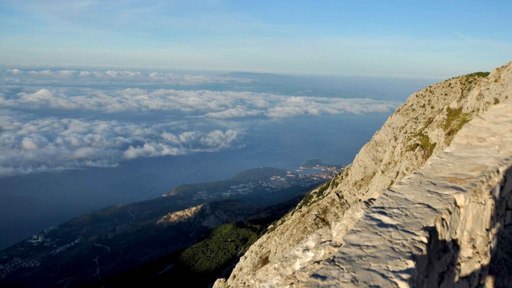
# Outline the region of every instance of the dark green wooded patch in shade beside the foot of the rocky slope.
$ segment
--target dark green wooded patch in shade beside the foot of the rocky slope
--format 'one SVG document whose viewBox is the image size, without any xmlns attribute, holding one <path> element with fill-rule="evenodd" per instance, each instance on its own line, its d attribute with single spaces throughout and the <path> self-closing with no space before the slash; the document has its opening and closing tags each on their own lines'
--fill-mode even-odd
<svg viewBox="0 0 512 288">
<path fill-rule="evenodd" d="M 263 225 L 248 222 L 216 227 L 206 239 L 183 251 L 178 260 L 195 273 L 218 271 L 258 240 L 264 230 Z"/>
</svg>

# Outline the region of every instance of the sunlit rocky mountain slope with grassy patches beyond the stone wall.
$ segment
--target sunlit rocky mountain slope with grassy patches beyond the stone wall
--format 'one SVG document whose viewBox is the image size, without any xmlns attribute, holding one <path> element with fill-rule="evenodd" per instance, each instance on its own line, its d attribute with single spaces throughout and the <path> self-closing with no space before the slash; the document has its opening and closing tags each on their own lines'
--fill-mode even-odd
<svg viewBox="0 0 512 288">
<path fill-rule="evenodd" d="M 411 95 L 352 165 L 269 227 L 216 286 L 273 286 L 330 259 L 382 191 L 444 150 L 471 119 L 512 98 L 512 63 L 452 78 Z M 287 279 L 285 281 L 285 279 Z M 285 281 L 285 282 L 283 282 Z"/>
</svg>

